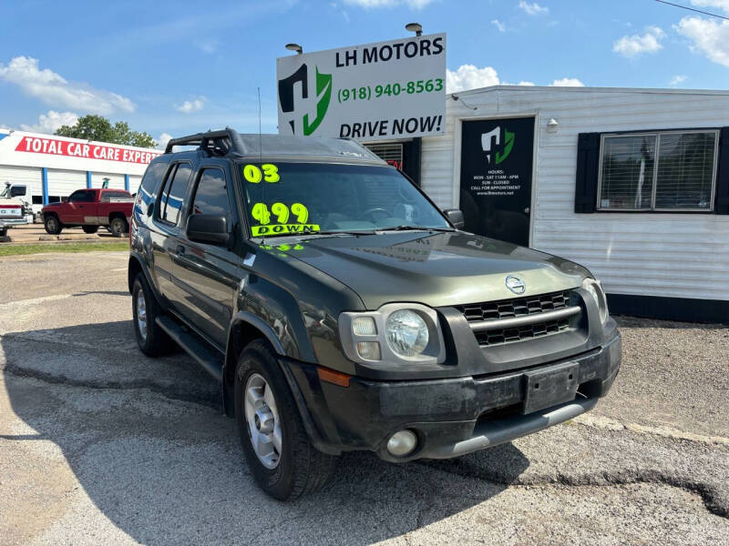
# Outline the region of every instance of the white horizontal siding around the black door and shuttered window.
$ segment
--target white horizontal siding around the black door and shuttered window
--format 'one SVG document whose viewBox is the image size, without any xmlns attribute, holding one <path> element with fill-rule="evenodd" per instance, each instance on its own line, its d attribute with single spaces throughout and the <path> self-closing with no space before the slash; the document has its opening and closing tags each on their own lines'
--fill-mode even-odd
<svg viewBox="0 0 729 546">
<path fill-rule="evenodd" d="M 729 300 L 729 217 L 573 208 L 579 133 L 729 126 L 729 94 L 510 87 L 459 96 L 447 99 L 446 135 L 423 138 L 423 187 L 438 206 L 458 202 L 458 117 L 538 111 L 534 248 L 590 268 L 611 293 Z"/>
</svg>

